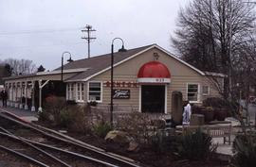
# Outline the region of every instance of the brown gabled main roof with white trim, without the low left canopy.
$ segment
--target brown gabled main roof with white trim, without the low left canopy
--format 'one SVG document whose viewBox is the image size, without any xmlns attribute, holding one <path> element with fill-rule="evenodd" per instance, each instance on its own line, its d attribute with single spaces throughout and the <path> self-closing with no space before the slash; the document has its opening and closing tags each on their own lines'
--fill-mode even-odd
<svg viewBox="0 0 256 167">
<path fill-rule="evenodd" d="M 196 69 L 195 67 L 193 67 L 189 63 L 183 61 L 182 59 L 176 58 L 173 54 L 169 53 L 168 51 L 161 48 L 157 44 L 151 44 L 151 45 L 147 45 L 147 46 L 143 46 L 143 47 L 139 47 L 139 48 L 135 48 L 135 49 L 130 49 L 130 50 L 127 50 L 127 52 L 114 53 L 114 67 L 118 66 L 119 64 L 121 64 L 131 58 L 135 58 L 138 55 L 140 55 L 152 48 L 157 48 L 157 49 L 163 51 L 170 57 L 172 57 L 172 58 L 178 60 L 179 62 L 181 62 L 182 64 L 188 66 L 189 68 L 191 68 L 198 74 L 205 75 L 204 72 Z M 60 68 L 58 68 L 56 70 L 60 70 Z M 100 75 L 101 73 L 104 73 L 107 70 L 110 70 L 111 54 L 106 54 L 106 55 L 93 57 L 93 58 L 84 58 L 84 59 L 76 60 L 76 61 L 73 61 L 73 62 L 70 62 L 70 63 L 64 65 L 64 70 L 75 69 L 75 68 L 88 68 L 88 69 L 78 75 L 75 75 L 75 76 L 72 76 L 72 77 L 66 79 L 65 82 L 87 81 L 96 75 Z"/>
</svg>

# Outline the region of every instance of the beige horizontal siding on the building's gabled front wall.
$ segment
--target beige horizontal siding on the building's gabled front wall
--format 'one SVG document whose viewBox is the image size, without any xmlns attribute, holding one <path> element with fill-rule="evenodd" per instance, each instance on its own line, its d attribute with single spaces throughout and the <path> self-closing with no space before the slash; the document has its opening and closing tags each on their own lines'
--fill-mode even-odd
<svg viewBox="0 0 256 167">
<path fill-rule="evenodd" d="M 187 83 L 200 84 L 200 92 L 205 76 L 199 75 L 188 66 L 180 63 L 174 58 L 167 56 L 165 53 L 160 52 L 157 49 L 152 49 L 141 54 L 137 58 L 132 58 L 121 65 L 114 68 L 114 81 L 137 81 L 137 73 L 139 68 L 146 62 L 154 59 L 153 55 L 157 52 L 160 56 L 158 61 L 164 63 L 171 72 L 171 83 L 167 85 L 167 112 L 171 112 L 172 109 L 172 93 L 174 91 L 182 92 L 183 100 L 187 99 Z M 90 81 L 110 81 L 110 70 L 97 75 L 90 79 Z M 114 99 L 114 104 L 123 106 L 135 106 L 138 108 L 139 103 L 139 88 L 121 88 L 129 89 L 131 92 L 130 99 Z M 210 88 L 211 89 L 211 88 Z M 212 94 L 215 92 L 212 92 Z M 200 95 L 199 97 L 203 97 Z M 102 105 L 108 105 L 110 103 L 110 88 L 103 87 L 103 103 Z"/>
</svg>

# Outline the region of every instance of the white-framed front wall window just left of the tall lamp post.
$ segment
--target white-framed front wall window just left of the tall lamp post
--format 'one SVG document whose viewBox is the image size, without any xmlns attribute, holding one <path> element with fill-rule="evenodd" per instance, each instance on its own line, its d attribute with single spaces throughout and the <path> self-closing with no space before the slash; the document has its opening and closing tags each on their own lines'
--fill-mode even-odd
<svg viewBox="0 0 256 167">
<path fill-rule="evenodd" d="M 101 102 L 101 82 L 89 82 L 88 101 Z"/>
</svg>

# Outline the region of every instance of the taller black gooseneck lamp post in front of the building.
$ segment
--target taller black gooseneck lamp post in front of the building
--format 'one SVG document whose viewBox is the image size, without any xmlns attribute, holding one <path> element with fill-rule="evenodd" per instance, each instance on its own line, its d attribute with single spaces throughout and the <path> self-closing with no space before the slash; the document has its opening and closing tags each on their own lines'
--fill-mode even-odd
<svg viewBox="0 0 256 167">
<path fill-rule="evenodd" d="M 126 52 L 126 49 L 124 49 L 124 42 L 122 41 L 121 38 L 115 38 L 112 40 L 112 44 L 111 44 L 111 97 L 110 97 L 110 124 L 111 127 L 113 127 L 113 96 L 114 96 L 114 92 L 113 92 L 113 66 L 114 66 L 114 42 L 115 40 L 120 40 L 122 42 L 122 46 L 119 49 L 119 52 Z"/>
</svg>

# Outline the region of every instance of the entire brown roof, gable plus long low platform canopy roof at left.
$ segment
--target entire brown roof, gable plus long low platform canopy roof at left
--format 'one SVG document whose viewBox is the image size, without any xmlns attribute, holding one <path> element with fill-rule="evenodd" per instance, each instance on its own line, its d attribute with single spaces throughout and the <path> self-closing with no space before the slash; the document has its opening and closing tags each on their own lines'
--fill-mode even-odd
<svg viewBox="0 0 256 167">
<path fill-rule="evenodd" d="M 157 44 L 151 44 L 151 45 L 146 45 L 146 46 L 142 46 L 134 49 L 129 49 L 126 52 L 115 52 L 114 67 L 128 61 L 131 58 L 136 58 L 140 54 L 153 48 L 157 48 L 161 50 L 162 52 L 166 53 L 168 56 L 179 61 L 181 64 L 184 64 L 185 66 L 191 68 L 193 71 L 195 71 L 199 75 L 206 75 L 204 72 L 196 69 L 195 67 L 183 61 L 182 59 L 175 57 L 173 54 L 161 48 Z M 73 76 L 67 78 L 64 81 L 65 82 L 87 81 L 96 75 L 100 75 L 101 73 L 104 73 L 107 70 L 110 70 L 110 68 L 111 68 L 111 54 L 105 54 L 105 55 L 92 57 L 92 58 L 82 58 L 82 59 L 64 64 L 64 74 L 66 73 L 74 74 Z M 61 74 L 61 67 L 51 72 L 43 72 L 43 73 L 37 73 L 32 75 L 9 76 L 9 77 L 6 77 L 5 80 L 31 77 L 36 75 L 56 75 L 56 74 Z"/>
</svg>

